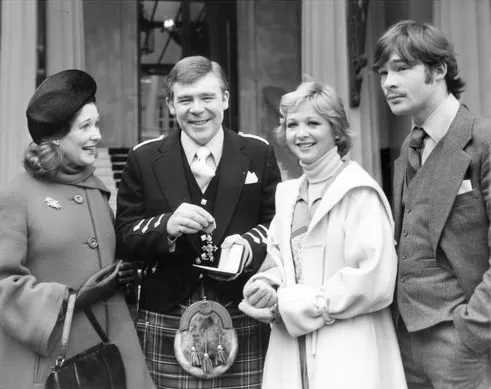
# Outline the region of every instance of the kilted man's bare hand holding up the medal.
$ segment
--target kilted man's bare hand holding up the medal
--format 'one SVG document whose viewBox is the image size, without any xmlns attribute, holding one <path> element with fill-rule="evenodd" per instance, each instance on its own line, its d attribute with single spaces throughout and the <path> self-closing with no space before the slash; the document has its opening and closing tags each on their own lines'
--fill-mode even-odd
<svg viewBox="0 0 491 389">
<path fill-rule="evenodd" d="M 215 219 L 208 211 L 189 203 L 179 205 L 167 221 L 167 233 L 174 238 L 199 231 L 211 233 L 215 227 Z"/>
</svg>

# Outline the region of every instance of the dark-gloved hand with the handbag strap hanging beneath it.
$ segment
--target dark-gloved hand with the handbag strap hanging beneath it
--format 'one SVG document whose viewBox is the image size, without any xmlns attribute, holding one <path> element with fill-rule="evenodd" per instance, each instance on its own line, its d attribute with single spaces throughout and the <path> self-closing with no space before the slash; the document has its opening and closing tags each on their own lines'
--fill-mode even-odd
<svg viewBox="0 0 491 389">
<path fill-rule="evenodd" d="M 77 291 L 75 308 L 90 308 L 97 302 L 114 294 L 119 284 L 119 270 L 122 261 L 102 268 L 92 274 Z"/>
</svg>

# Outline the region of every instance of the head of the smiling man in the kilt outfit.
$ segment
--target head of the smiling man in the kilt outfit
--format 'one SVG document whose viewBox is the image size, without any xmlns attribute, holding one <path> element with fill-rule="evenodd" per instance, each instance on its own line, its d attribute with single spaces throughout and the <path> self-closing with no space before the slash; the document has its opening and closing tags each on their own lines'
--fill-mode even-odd
<svg viewBox="0 0 491 389">
<path fill-rule="evenodd" d="M 222 127 L 229 91 L 218 63 L 202 56 L 181 59 L 167 77 L 166 95 L 170 113 L 197 144 L 207 144 Z"/>
</svg>

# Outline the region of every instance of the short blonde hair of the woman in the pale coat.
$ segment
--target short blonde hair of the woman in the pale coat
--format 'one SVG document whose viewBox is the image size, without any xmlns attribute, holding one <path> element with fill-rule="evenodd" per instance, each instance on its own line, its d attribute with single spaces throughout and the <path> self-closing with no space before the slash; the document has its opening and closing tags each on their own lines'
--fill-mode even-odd
<svg viewBox="0 0 491 389">
<path fill-rule="evenodd" d="M 279 141 L 286 145 L 286 120 L 288 113 L 300 104 L 308 102 L 315 111 L 327 120 L 333 130 L 334 142 L 341 157 L 351 149 L 352 134 L 344 111 L 343 102 L 333 88 L 316 81 L 301 83 L 293 92 L 283 95 L 280 101 L 280 125 L 276 129 Z"/>
</svg>

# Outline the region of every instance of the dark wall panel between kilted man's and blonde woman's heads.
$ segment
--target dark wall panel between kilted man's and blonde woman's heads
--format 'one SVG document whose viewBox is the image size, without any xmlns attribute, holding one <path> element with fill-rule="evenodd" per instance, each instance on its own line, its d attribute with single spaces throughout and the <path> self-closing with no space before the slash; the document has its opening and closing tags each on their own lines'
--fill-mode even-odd
<svg viewBox="0 0 491 389">
<path fill-rule="evenodd" d="M 239 130 L 270 141 L 279 98 L 301 81 L 301 0 L 238 0 Z M 296 176 L 291 154 L 275 145 L 283 176 Z"/>
</svg>

